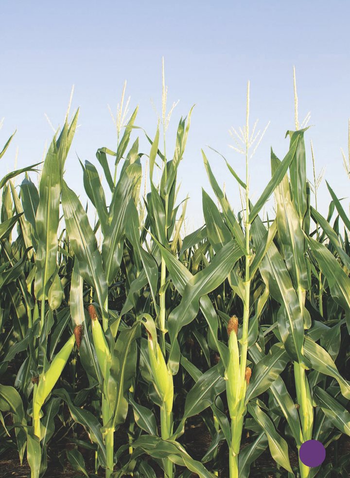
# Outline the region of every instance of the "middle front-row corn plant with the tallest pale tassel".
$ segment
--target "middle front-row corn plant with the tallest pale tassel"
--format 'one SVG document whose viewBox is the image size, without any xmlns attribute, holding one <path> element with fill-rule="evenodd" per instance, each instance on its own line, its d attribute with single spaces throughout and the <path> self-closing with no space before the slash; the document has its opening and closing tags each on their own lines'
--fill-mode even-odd
<svg viewBox="0 0 350 478">
<path fill-rule="evenodd" d="M 146 224 L 149 224 L 152 238 L 161 246 L 170 248 L 170 240 L 174 233 L 173 248 L 176 246 L 178 238 L 178 227 L 176 226 L 176 214 L 178 206 L 175 207 L 176 200 L 176 175 L 177 169 L 184 154 L 188 132 L 190 128 L 191 113 L 190 111 L 188 121 L 180 120 L 177 135 L 174 157 L 171 161 L 167 161 L 166 156 L 166 130 L 169 124 L 171 113 L 175 107 L 175 103 L 169 114 L 166 112 L 167 88 L 165 86 L 164 77 L 164 60 L 162 64 L 162 125 L 163 125 L 163 153 L 158 149 L 159 143 L 159 129 L 157 128 L 154 141 L 151 141 L 152 147 L 149 155 L 149 179 L 151 191 L 145 199 L 147 209 Z M 156 165 L 157 156 L 161 160 L 162 177 L 157 188 L 154 184 L 154 168 Z M 138 251 L 139 263 L 142 264 L 144 272 L 147 276 L 152 299 L 153 312 L 157 316 L 157 326 L 160 330 L 159 344 L 157 340 L 156 328 L 154 320 L 148 314 L 144 324 L 148 333 L 148 361 L 151 364 L 151 375 L 149 379 L 154 384 L 157 391 L 158 400 L 160 400 L 160 428 L 161 438 L 168 440 L 173 434 L 173 400 L 174 400 L 174 385 L 169 365 L 166 365 L 166 322 L 167 322 L 167 307 L 166 307 L 166 263 L 162 256 L 160 256 L 160 284 L 157 289 L 157 262 L 149 253 L 146 253 L 140 246 L 140 238 L 137 227 L 138 217 L 136 210 L 131 215 L 133 221 L 131 222 L 133 230 L 129 232 L 129 239 L 136 251 Z M 157 248 L 154 251 L 156 258 Z M 158 256 L 158 257 L 157 257 Z M 157 301 L 158 299 L 158 301 Z M 169 478 L 173 477 L 173 461 L 165 460 L 165 474 Z"/>
</svg>

